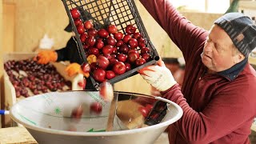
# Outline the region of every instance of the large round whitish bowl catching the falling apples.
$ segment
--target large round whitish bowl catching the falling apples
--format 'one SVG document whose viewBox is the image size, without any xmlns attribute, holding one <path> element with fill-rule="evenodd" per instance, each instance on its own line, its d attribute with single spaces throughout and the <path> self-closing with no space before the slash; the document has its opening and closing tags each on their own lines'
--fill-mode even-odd
<svg viewBox="0 0 256 144">
<path fill-rule="evenodd" d="M 129 101 L 137 101 L 136 98 L 143 99 L 147 97 L 145 94 L 132 94 L 117 91 L 114 92 L 114 95 L 114 98 L 118 100 L 117 102 L 125 102 L 126 104 L 127 102 L 129 103 Z M 153 126 L 134 128 L 131 130 L 123 130 L 121 128 L 122 126 L 118 128 L 114 126 L 114 131 L 105 131 L 111 102 L 103 101 L 98 96 L 98 91 L 39 94 L 25 98 L 14 104 L 10 110 L 10 116 L 15 122 L 25 126 L 39 144 L 150 144 L 154 143 L 160 134 L 166 130 L 167 126 L 182 117 L 182 109 L 180 106 L 164 98 L 157 97 L 156 99 L 169 103 L 167 105 L 168 110 L 166 110 L 166 116 L 162 121 Z M 103 110 L 100 115 L 90 114 L 90 103 L 95 101 L 102 103 Z M 79 105 L 82 106 L 84 110 L 82 119 L 80 121 L 73 121 L 70 118 L 70 114 L 72 110 Z M 123 105 L 123 107 L 125 106 Z M 119 110 L 119 113 L 121 111 L 122 114 L 138 115 L 136 111 L 138 109 L 134 107 L 136 106 L 122 108 L 122 110 Z M 116 109 L 118 110 L 118 107 Z M 131 112 L 130 110 L 135 111 Z M 117 118 L 114 121 L 116 123 L 120 121 L 120 119 Z M 69 131 L 70 126 L 77 131 Z"/>
</svg>

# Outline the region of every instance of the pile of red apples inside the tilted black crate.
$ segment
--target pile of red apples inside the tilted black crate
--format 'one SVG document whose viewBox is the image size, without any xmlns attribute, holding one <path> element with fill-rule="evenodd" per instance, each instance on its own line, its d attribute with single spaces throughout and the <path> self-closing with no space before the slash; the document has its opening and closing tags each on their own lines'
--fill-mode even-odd
<svg viewBox="0 0 256 144">
<path fill-rule="evenodd" d="M 78 9 L 70 14 L 88 62 L 82 64 L 82 70 L 91 72 L 96 82 L 115 78 L 152 59 L 145 38 L 133 24 L 125 27 L 125 34 L 114 24 L 96 30 L 92 21 L 82 21 Z"/>
</svg>

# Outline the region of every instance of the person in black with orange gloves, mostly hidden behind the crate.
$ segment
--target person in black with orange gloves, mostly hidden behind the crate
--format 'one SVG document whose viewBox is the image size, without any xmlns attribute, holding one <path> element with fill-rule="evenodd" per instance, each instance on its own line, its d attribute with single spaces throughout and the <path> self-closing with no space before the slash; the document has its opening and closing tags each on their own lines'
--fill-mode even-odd
<svg viewBox="0 0 256 144">
<path fill-rule="evenodd" d="M 71 23 L 65 28 L 66 32 L 73 32 Z M 73 34 L 74 35 L 74 34 Z M 78 43 L 72 36 L 66 43 L 66 47 L 59 50 L 41 50 L 35 60 L 40 64 L 48 62 L 70 61 L 70 65 L 66 67 L 66 73 L 72 77 L 75 74 L 84 74 L 86 77 L 86 90 L 95 90 L 94 85 L 90 81 L 89 73 L 84 73 L 81 69 L 82 58 L 79 56 Z"/>
</svg>

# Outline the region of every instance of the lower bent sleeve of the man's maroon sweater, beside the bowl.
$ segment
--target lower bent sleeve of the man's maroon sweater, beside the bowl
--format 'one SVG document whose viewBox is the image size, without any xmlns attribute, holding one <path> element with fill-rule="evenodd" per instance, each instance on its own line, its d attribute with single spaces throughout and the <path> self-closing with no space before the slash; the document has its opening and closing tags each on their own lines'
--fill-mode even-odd
<svg viewBox="0 0 256 144">
<path fill-rule="evenodd" d="M 243 88 L 246 89 L 246 86 L 240 86 L 240 89 Z M 182 118 L 175 122 L 174 126 L 188 143 L 198 144 L 210 143 L 222 138 L 231 131 L 238 130 L 244 123 L 248 124 L 247 133 L 250 134 L 251 122 L 248 121 L 254 117 L 254 113 L 251 112 L 253 107 L 250 107 L 251 102 L 246 99 L 248 94 L 243 90 L 234 91 L 223 88 L 222 92 L 215 94 L 201 112 L 189 106 L 178 84 L 162 92 L 162 96 L 182 107 Z"/>
</svg>

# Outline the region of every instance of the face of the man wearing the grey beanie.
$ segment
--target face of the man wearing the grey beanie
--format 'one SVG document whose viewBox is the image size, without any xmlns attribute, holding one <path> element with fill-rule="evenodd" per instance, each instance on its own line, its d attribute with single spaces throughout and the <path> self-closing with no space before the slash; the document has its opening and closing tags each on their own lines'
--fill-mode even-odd
<svg viewBox="0 0 256 144">
<path fill-rule="evenodd" d="M 212 72 L 227 70 L 237 63 L 238 54 L 229 35 L 214 25 L 203 49 L 202 63 Z"/>
</svg>

